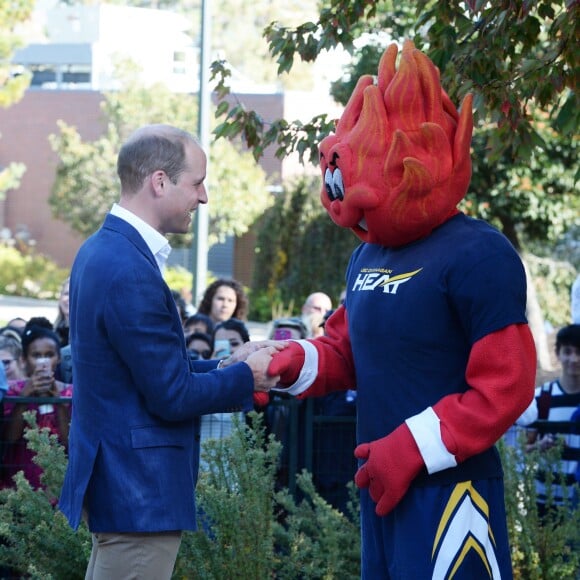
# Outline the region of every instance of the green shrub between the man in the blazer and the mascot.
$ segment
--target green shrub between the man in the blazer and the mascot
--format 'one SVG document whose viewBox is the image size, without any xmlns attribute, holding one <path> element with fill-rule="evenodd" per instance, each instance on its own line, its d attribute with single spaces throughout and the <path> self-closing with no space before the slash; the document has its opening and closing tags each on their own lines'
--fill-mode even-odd
<svg viewBox="0 0 580 580">
<path fill-rule="evenodd" d="M 175 577 L 359 578 L 358 516 L 326 503 L 307 473 L 298 477 L 300 504 L 276 493 L 280 443 L 266 438 L 261 414 L 250 416 L 251 427 L 234 417 L 230 437 L 204 443 L 209 470 L 196 494 L 205 531 L 184 534 Z"/>
</svg>

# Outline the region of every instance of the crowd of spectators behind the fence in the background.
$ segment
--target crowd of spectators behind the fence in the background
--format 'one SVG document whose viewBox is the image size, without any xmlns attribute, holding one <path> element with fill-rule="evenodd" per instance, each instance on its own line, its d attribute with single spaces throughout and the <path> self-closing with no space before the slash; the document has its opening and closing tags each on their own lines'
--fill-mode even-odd
<svg viewBox="0 0 580 580">
<path fill-rule="evenodd" d="M 186 304 L 179 293 L 174 293 L 174 297 L 192 359 L 225 358 L 252 339 L 247 326 L 249 298 L 237 280 L 220 278 L 210 284 L 197 310 Z M 341 296 L 339 307 L 343 300 Z M 191 314 L 192 311 L 195 313 Z M 268 338 L 303 340 L 321 336 L 333 312 L 331 298 L 323 292 L 314 292 L 304 301 L 300 315 L 272 320 Z M 43 317 L 30 320 L 16 317 L 0 328 L 0 397 L 5 396 L 0 432 L 2 487 L 12 486 L 13 476 L 19 470 L 31 485 L 41 485 L 40 468 L 34 463 L 33 453 L 27 449 L 24 439 L 25 411 L 36 411 L 37 424 L 56 434 L 66 448 L 74 389 L 68 339 L 68 279 L 63 282 L 54 321 Z M 556 335 L 555 349 L 561 372 L 555 379 L 538 386 L 536 398 L 518 425 L 519 429 L 524 425 L 530 450 L 545 450 L 558 442 L 563 445 L 559 468 L 566 476 L 565 489 L 574 491 L 573 484 L 580 476 L 580 429 L 567 426 L 565 432 L 558 432 L 543 425 L 556 422 L 566 426 L 567 422 L 580 420 L 580 325 L 574 323 L 561 328 Z M 283 444 L 278 485 L 290 484 L 289 452 L 294 447 L 298 454 L 293 472 L 305 466 L 310 468 L 319 493 L 344 510 L 348 499 L 347 484 L 356 471 L 352 455 L 356 441 L 356 386 L 313 401 L 290 404 L 288 399 L 283 393 L 271 392 L 255 406 L 256 410 L 264 412 L 268 432 Z M 311 405 L 308 418 L 306 403 Z M 202 440 L 231 434 L 232 413 L 217 415 L 202 418 Z M 325 419 L 332 417 L 352 417 L 353 420 L 333 422 Z M 307 424 L 308 436 L 305 434 Z M 292 437 L 295 440 L 291 440 Z M 306 444 L 311 445 L 309 450 Z M 306 456 L 311 458 L 310 462 L 306 462 Z M 556 486 L 552 492 L 556 502 L 567 500 L 577 505 L 577 492 L 566 497 L 565 489 Z M 538 476 L 537 494 L 542 504 L 546 491 L 541 475 Z"/>
</svg>

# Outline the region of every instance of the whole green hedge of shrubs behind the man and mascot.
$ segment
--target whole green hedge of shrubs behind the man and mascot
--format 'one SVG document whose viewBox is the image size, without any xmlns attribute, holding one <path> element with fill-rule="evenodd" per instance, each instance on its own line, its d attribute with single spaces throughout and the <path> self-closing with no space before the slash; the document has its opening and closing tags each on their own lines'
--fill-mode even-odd
<svg viewBox="0 0 580 580">
<path fill-rule="evenodd" d="M 0 491 L 0 566 L 28 578 L 84 578 L 91 549 L 84 524 L 78 533 L 54 507 L 66 468 L 54 436 L 35 427 L 26 437 L 44 469 L 45 490 L 33 490 L 20 475 L 16 488 Z M 210 532 L 187 532 L 174 578 L 343 580 L 360 577 L 358 502 L 347 515 L 314 489 L 310 475 L 298 477 L 300 502 L 274 489 L 280 444 L 266 438 L 261 415 L 250 427 L 237 423 L 231 437 L 204 443 L 209 467 L 200 475 L 198 503 Z M 558 462 L 561 448 L 523 453 L 523 442 L 500 442 L 514 578 L 565 580 L 580 570 L 580 510 L 551 506 L 540 521 L 534 475 Z M 550 503 L 550 500 L 549 500 Z M 549 506 L 550 507 L 550 506 Z"/>
</svg>

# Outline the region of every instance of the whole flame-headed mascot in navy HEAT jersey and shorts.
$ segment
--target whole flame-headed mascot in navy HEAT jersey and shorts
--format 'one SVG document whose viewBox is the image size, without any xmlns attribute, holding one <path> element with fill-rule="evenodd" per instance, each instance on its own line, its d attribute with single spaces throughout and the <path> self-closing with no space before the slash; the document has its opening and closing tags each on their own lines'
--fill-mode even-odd
<svg viewBox="0 0 580 580">
<path fill-rule="evenodd" d="M 494 443 L 534 396 L 524 268 L 457 209 L 471 177 L 472 99 L 396 45 L 319 146 L 321 198 L 362 240 L 327 336 L 292 341 L 269 372 L 299 397 L 357 388 L 362 577 L 510 578 Z"/>
</svg>

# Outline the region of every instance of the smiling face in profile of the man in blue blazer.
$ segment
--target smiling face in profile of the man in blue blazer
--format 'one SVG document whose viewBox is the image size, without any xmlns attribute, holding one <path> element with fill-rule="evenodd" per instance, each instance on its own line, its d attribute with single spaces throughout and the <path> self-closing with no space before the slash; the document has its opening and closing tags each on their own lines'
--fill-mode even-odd
<svg viewBox="0 0 580 580">
<path fill-rule="evenodd" d="M 185 170 L 172 183 L 169 177 L 163 182 L 164 195 L 162 234 L 185 234 L 189 231 L 193 212 L 200 203 L 207 203 L 204 180 L 206 156 L 201 148 L 191 143 L 186 146 Z"/>
</svg>

